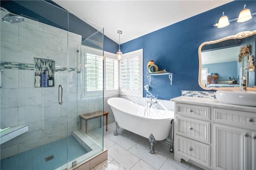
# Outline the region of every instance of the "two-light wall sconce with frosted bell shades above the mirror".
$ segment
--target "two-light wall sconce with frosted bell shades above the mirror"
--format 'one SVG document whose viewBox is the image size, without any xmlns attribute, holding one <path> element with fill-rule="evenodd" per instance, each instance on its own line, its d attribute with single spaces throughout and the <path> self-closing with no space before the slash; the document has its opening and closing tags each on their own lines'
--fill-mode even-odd
<svg viewBox="0 0 256 170">
<path fill-rule="evenodd" d="M 220 17 L 220 20 L 218 23 L 214 24 L 213 26 L 216 26 L 217 28 L 223 28 L 229 25 L 229 22 L 236 21 L 239 23 L 246 22 L 252 18 L 253 15 L 256 14 L 256 12 L 252 13 L 248 8 L 245 8 L 246 5 L 244 5 L 244 9 L 240 12 L 238 18 L 228 20 L 228 17 L 224 15 L 224 12 L 222 14 L 222 17 Z"/>
</svg>

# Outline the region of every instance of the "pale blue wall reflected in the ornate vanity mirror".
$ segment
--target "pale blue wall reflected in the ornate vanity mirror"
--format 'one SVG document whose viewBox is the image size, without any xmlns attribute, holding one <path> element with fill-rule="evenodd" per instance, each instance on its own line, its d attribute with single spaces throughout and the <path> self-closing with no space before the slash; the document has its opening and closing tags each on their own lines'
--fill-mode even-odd
<svg viewBox="0 0 256 170">
<path fill-rule="evenodd" d="M 229 81 L 229 77 L 238 79 L 236 61 L 204 64 L 202 68 L 208 68 L 208 73 L 218 73 L 219 81 Z"/>
</svg>

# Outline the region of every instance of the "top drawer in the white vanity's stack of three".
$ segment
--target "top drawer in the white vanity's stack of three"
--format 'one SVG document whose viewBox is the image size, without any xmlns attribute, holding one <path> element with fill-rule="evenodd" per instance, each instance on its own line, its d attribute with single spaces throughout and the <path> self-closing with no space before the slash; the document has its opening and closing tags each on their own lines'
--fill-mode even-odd
<svg viewBox="0 0 256 170">
<path fill-rule="evenodd" d="M 210 107 L 176 103 L 176 113 L 210 120 Z"/>
</svg>

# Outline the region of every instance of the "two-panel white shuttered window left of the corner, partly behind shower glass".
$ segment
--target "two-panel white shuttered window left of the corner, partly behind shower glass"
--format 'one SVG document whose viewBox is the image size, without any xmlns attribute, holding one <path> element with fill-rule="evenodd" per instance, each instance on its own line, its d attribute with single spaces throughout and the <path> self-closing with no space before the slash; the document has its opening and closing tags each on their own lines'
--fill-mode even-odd
<svg viewBox="0 0 256 170">
<path fill-rule="evenodd" d="M 82 98 L 119 95 L 119 63 L 116 54 L 82 46 Z"/>
</svg>

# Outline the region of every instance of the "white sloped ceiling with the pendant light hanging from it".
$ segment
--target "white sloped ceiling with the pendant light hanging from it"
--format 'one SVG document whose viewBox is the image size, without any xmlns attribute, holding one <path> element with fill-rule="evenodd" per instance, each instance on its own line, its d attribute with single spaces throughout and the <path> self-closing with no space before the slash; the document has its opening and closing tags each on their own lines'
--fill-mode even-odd
<svg viewBox="0 0 256 170">
<path fill-rule="evenodd" d="M 232 0 L 53 0 L 72 14 L 104 27 L 104 34 L 125 43 Z M 212 21 L 214 24 L 214 21 Z"/>
</svg>

